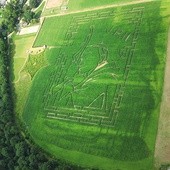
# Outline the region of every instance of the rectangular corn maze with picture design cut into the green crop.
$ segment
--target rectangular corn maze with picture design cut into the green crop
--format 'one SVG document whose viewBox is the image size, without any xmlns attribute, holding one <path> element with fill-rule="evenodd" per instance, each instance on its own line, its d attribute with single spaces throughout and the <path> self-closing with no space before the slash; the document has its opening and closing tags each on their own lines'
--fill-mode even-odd
<svg viewBox="0 0 170 170">
<path fill-rule="evenodd" d="M 143 12 L 144 7 L 134 7 L 122 11 L 119 16 L 110 9 L 72 17 L 63 48 L 56 56 L 56 69 L 51 73 L 49 84 L 44 90 L 43 102 L 47 118 L 101 127 L 116 126 L 137 50 Z M 115 40 L 123 44 L 116 49 L 115 54 L 110 54 L 105 37 L 96 44 L 91 41 L 96 36 L 95 22 L 114 20 L 116 17 L 122 17 L 125 26 L 130 27 L 130 30 L 124 31 L 115 26 L 104 28 L 106 38 L 116 37 Z M 87 25 L 86 37 L 77 52 L 70 56 L 66 51 L 73 48 L 75 35 L 84 25 Z M 86 50 L 89 49 L 97 50 L 97 61 L 85 59 Z M 91 68 L 85 66 L 84 60 L 88 60 Z M 95 83 L 100 79 L 110 80 L 110 83 Z"/>
</svg>

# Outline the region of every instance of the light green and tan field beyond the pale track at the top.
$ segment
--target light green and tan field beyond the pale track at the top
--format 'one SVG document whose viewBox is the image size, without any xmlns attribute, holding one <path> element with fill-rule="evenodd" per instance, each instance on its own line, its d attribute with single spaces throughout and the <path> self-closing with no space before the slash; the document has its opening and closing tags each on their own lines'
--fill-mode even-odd
<svg viewBox="0 0 170 170">
<path fill-rule="evenodd" d="M 151 2 L 151 1 L 159 1 L 159 0 L 63 0 L 62 5 L 53 8 L 45 8 L 43 11 L 43 16 L 51 16 L 51 15 L 62 15 L 62 14 L 70 14 L 70 13 L 78 13 L 82 11 L 91 11 L 91 10 L 99 10 L 104 8 L 110 8 L 115 6 L 126 6 L 126 5 L 133 5 L 138 3 L 144 2 Z M 55 2 L 53 2 L 55 3 Z M 58 3 L 60 3 L 58 1 Z M 65 9 L 66 7 L 66 9 Z"/>
</svg>

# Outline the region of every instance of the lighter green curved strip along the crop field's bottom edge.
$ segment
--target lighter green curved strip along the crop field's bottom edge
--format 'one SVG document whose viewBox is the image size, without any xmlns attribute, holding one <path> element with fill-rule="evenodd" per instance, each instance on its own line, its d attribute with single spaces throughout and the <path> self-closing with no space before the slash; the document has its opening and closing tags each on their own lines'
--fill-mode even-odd
<svg viewBox="0 0 170 170">
<path fill-rule="evenodd" d="M 38 138 L 35 139 L 35 142 L 38 143 L 42 148 L 46 148 L 45 151 L 48 153 L 55 152 L 57 159 L 66 160 L 67 162 L 80 165 L 82 167 L 89 167 L 89 168 L 98 168 L 98 169 L 106 169 L 106 170 L 116 170 L 116 169 L 141 169 L 144 167 L 152 167 L 151 163 L 152 158 L 145 159 L 142 161 L 136 161 L 136 162 L 122 162 L 122 161 L 116 161 L 111 160 L 105 157 L 98 157 L 95 155 L 89 155 L 78 151 L 73 150 L 67 150 L 63 149 L 61 147 L 57 147 L 53 144 L 44 144 L 42 140 L 38 140 Z M 148 169 L 146 169 L 148 170 Z"/>
</svg>

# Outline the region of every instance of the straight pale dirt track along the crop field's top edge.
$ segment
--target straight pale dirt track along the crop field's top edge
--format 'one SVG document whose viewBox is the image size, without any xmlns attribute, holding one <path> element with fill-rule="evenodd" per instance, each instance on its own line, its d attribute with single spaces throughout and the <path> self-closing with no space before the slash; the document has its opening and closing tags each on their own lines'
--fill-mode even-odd
<svg viewBox="0 0 170 170">
<path fill-rule="evenodd" d="M 138 0 L 138 1 L 132 1 L 132 2 L 117 3 L 117 4 L 112 4 L 112 5 L 99 6 L 99 7 L 95 7 L 95 8 L 87 8 L 87 9 L 84 9 L 84 10 L 77 10 L 77 11 L 68 12 L 68 13 L 49 15 L 49 16 L 46 16 L 46 17 L 49 18 L 49 17 L 54 17 L 54 16 L 71 15 L 71 14 L 77 14 L 77 13 L 81 13 L 81 12 L 96 11 L 96 10 L 106 9 L 106 8 L 142 4 L 142 3 L 153 2 L 153 1 L 156 1 L 156 0 Z"/>
</svg>

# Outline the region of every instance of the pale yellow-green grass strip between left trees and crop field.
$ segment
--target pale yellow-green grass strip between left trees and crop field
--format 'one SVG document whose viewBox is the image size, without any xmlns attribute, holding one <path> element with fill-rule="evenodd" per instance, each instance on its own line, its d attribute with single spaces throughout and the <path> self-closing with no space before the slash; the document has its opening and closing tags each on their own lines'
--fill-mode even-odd
<svg viewBox="0 0 170 170">
<path fill-rule="evenodd" d="M 27 99 L 29 88 L 31 85 L 31 76 L 29 72 L 24 71 L 25 63 L 30 58 L 29 50 L 32 48 L 35 34 L 15 35 L 13 41 L 15 43 L 13 57 L 13 82 L 15 88 L 15 112 L 21 116 Z M 30 61 L 30 60 L 28 60 Z M 27 62 L 29 63 L 29 62 Z M 35 70 L 35 69 L 34 69 Z M 27 70 L 28 71 L 28 70 Z M 35 72 L 35 71 L 34 71 Z"/>
</svg>

